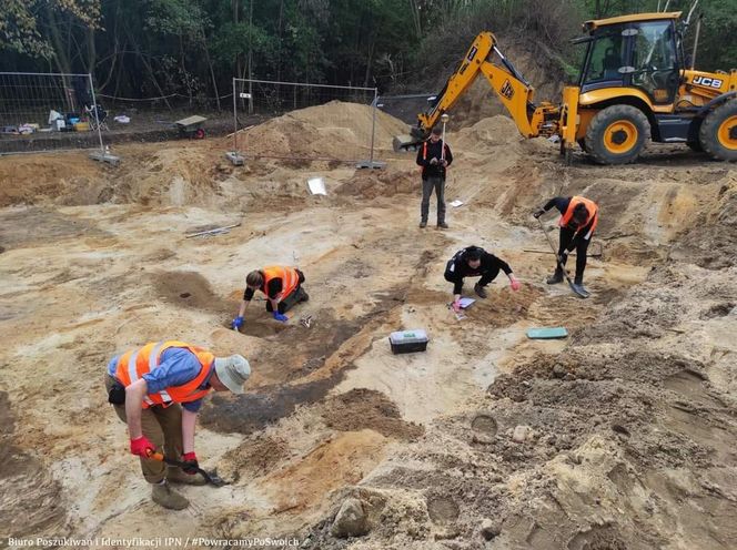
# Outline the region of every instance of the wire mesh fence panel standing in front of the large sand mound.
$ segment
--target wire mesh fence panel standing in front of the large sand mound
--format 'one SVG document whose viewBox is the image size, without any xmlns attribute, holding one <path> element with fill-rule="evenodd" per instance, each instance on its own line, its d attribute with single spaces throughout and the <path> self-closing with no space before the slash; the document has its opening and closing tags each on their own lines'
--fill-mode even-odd
<svg viewBox="0 0 737 550">
<path fill-rule="evenodd" d="M 233 79 L 238 154 L 377 167 L 375 126 L 375 88 Z"/>
</svg>

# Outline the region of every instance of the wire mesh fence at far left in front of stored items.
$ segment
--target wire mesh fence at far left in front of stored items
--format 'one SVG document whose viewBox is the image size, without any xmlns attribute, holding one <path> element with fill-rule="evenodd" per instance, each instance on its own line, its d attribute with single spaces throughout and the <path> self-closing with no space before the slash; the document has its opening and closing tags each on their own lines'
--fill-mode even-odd
<svg viewBox="0 0 737 550">
<path fill-rule="evenodd" d="M 0 154 L 104 150 L 90 74 L 0 72 Z"/>
</svg>

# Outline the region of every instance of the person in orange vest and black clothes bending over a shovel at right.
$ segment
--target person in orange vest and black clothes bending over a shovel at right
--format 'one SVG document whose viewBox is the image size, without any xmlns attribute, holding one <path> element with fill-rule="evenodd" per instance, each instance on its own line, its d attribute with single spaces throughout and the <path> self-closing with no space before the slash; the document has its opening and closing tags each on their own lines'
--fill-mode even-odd
<svg viewBox="0 0 737 550">
<path fill-rule="evenodd" d="M 554 196 L 545 206 L 535 212 L 533 216 L 538 218 L 545 212 L 555 206 L 561 215 L 561 244 L 558 245 L 559 263 L 566 265 L 568 254 L 576 248 L 576 277 L 574 285 L 578 291 L 587 293 L 584 288 L 584 271 L 586 269 L 586 254 L 588 243 L 598 224 L 598 206 L 594 201 L 583 196 Z M 563 282 L 563 269 L 561 265 L 555 266 L 555 272 L 547 278 L 548 285 Z"/>
</svg>

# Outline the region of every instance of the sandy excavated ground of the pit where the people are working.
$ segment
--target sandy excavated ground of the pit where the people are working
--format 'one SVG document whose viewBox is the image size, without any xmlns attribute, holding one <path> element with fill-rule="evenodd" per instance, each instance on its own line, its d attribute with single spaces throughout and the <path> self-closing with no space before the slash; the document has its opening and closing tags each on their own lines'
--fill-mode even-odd
<svg viewBox="0 0 737 550">
<path fill-rule="evenodd" d="M 362 108 L 322 109 L 350 116 L 324 132 L 313 108 L 249 140 L 363 141 Z M 382 119 L 378 143 L 397 128 Z M 737 170 L 675 146 L 565 169 L 502 116 L 448 142 L 446 196 L 466 204 L 445 232 L 416 227 L 414 160 L 388 151 L 382 172 L 235 169 L 215 139 L 121 145 L 118 169 L 82 153 L 0 159 L 0 534 L 145 524 L 312 549 L 735 548 Z M 306 193 L 314 175 L 327 196 Z M 588 301 L 545 285 L 551 256 L 523 252 L 547 249 L 529 213 L 558 194 L 602 205 Z M 443 268 L 468 244 L 523 288 L 501 277 L 458 322 Z M 255 301 L 230 330 L 246 272 L 273 263 L 304 271 L 310 302 L 281 325 Z M 556 325 L 571 337 L 525 337 Z M 427 352 L 393 356 L 388 334 L 417 327 Z M 101 385 L 115 352 L 169 337 L 253 367 L 249 394 L 209 398 L 198 428 L 201 461 L 232 485 L 183 488 L 182 512 L 150 501 Z M 360 537 L 334 529 L 346 501 Z"/>
</svg>

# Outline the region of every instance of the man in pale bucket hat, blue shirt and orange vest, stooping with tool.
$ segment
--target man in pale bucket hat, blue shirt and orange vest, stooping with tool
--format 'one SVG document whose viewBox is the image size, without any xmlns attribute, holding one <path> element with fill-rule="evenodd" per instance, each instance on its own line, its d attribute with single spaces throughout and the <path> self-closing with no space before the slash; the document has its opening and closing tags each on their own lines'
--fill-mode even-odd
<svg viewBox="0 0 737 550">
<path fill-rule="evenodd" d="M 251 366 L 240 355 L 215 357 L 178 340 L 150 343 L 110 360 L 104 380 L 108 401 L 128 424 L 131 454 L 141 460 L 154 502 L 182 510 L 189 501 L 169 483 L 212 480 L 200 469 L 194 454 L 194 425 L 202 398 L 211 390 L 243 394 L 250 375 Z"/>
</svg>

